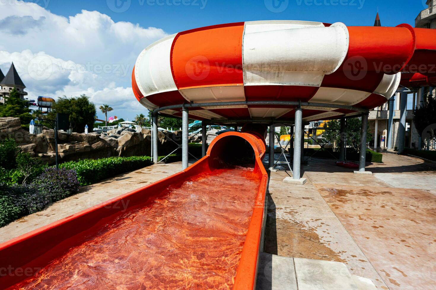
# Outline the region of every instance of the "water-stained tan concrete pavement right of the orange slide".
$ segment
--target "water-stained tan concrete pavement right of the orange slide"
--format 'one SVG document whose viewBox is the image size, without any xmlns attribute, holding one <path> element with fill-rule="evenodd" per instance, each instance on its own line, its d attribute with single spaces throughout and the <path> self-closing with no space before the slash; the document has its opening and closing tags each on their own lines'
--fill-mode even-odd
<svg viewBox="0 0 436 290">
<path fill-rule="evenodd" d="M 312 158 L 303 186 L 272 172 L 266 252 L 344 262 L 379 289 L 435 289 L 436 163 L 390 153 L 383 161 L 357 175 Z"/>
</svg>

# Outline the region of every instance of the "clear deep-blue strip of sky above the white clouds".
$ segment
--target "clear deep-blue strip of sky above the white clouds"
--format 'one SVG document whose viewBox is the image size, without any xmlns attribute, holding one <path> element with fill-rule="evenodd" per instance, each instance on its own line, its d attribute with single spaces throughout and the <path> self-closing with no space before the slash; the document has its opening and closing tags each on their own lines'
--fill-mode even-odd
<svg viewBox="0 0 436 290">
<path fill-rule="evenodd" d="M 41 5 L 44 6 L 43 0 Z M 108 2 L 119 1 L 124 12 L 114 12 Z M 383 26 L 396 26 L 414 20 L 425 0 L 51 0 L 48 9 L 65 17 L 82 9 L 97 10 L 114 21 L 139 23 L 142 27 L 159 27 L 176 33 L 196 27 L 250 20 L 309 20 L 343 22 L 346 25 L 373 25 L 380 13 Z M 283 7 L 272 12 L 269 3 Z M 123 4 L 121 4 L 123 3 Z M 342 3 L 342 4 L 341 4 Z M 271 6 L 272 7 L 272 6 Z M 286 8 L 285 8 L 286 7 Z"/>
</svg>

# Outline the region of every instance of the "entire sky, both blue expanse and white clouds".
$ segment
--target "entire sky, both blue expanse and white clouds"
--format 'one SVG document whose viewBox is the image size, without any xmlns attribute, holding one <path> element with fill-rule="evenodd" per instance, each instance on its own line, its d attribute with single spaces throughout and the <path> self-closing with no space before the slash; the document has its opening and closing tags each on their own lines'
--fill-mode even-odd
<svg viewBox="0 0 436 290">
<path fill-rule="evenodd" d="M 414 26 L 426 0 L 5 0 L 0 69 L 14 61 L 30 98 L 88 95 L 124 119 L 146 113 L 130 73 L 150 43 L 172 33 L 249 20 Z M 103 118 L 101 112 L 99 118 Z"/>
</svg>

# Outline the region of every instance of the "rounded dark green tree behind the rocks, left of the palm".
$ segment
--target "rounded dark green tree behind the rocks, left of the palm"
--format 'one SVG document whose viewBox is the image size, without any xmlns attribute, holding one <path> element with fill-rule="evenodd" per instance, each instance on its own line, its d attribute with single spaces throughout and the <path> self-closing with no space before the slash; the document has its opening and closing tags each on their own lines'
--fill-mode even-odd
<svg viewBox="0 0 436 290">
<path fill-rule="evenodd" d="M 72 123 L 73 131 L 78 133 L 85 132 L 85 125 L 92 128 L 95 121 L 95 105 L 89 101 L 89 97 L 81 95 L 80 97 L 61 97 L 52 107 L 48 118 L 54 119 L 56 113 L 68 113 L 70 115 L 70 123 Z"/>
</svg>

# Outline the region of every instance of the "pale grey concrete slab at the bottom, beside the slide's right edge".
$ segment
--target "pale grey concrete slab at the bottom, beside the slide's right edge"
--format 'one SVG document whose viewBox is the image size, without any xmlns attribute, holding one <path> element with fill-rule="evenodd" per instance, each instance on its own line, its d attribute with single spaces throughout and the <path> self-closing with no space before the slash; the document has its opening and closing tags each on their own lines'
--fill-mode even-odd
<svg viewBox="0 0 436 290">
<path fill-rule="evenodd" d="M 352 276 L 344 263 L 261 253 L 257 290 L 375 290 L 371 280 Z"/>
</svg>

